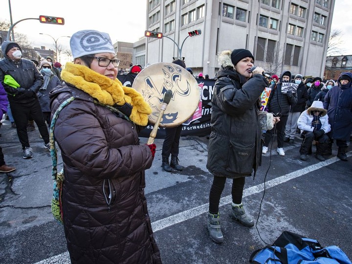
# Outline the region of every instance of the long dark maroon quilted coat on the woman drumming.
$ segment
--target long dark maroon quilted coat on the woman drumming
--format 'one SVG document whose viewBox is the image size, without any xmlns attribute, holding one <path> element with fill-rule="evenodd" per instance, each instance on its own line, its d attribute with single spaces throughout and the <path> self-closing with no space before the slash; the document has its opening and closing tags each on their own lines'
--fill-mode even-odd
<svg viewBox="0 0 352 264">
<path fill-rule="evenodd" d="M 72 263 L 161 263 L 144 196 L 152 165 L 135 126 L 73 87 L 51 91 L 54 130 L 64 161 L 63 216 Z"/>
</svg>

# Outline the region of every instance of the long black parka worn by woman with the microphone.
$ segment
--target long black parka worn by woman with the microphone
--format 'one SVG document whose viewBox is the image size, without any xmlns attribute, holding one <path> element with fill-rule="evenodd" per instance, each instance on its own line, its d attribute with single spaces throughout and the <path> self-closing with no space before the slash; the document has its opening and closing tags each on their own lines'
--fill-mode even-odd
<svg viewBox="0 0 352 264">
<path fill-rule="evenodd" d="M 251 176 L 261 164 L 260 95 L 268 86 L 255 74 L 247 82 L 231 67 L 220 67 L 212 97 L 212 132 L 207 169 L 214 176 Z"/>
</svg>

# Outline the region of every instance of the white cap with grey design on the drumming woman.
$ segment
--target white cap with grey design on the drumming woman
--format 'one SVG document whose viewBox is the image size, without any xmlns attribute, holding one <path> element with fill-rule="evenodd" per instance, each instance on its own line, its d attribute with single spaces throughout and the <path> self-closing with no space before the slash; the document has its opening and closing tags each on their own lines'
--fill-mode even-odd
<svg viewBox="0 0 352 264">
<path fill-rule="evenodd" d="M 70 47 L 74 59 L 104 52 L 115 54 L 109 34 L 97 30 L 81 30 L 74 33 L 70 39 Z"/>
</svg>

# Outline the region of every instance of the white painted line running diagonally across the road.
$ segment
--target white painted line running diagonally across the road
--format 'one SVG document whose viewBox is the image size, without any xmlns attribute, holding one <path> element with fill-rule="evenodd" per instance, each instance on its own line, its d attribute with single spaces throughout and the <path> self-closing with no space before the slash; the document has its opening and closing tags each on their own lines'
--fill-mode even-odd
<svg viewBox="0 0 352 264">
<path fill-rule="evenodd" d="M 347 153 L 348 157 L 351 155 L 352 155 L 352 152 Z M 297 178 L 299 176 L 306 175 L 309 172 L 319 170 L 319 169 L 326 167 L 326 166 L 328 166 L 336 161 L 339 161 L 339 160 L 340 160 L 339 158 L 333 157 L 333 158 L 330 158 L 326 161 L 322 161 L 317 164 L 306 167 L 304 169 L 301 169 L 301 170 L 298 170 L 295 172 L 291 172 L 291 173 L 286 174 L 284 176 L 280 176 L 275 179 L 269 180 L 265 183 L 265 189 L 269 189 L 271 187 L 285 183 L 286 181 Z M 264 191 L 264 183 L 261 183 L 261 184 L 258 184 L 258 185 L 255 185 L 255 186 L 252 186 L 252 187 L 245 189 L 243 191 L 243 197 L 257 194 L 262 191 Z M 229 203 L 231 203 L 231 201 L 232 201 L 231 195 L 226 196 L 224 198 L 221 198 L 220 199 L 220 206 L 229 204 Z M 208 212 L 208 208 L 209 208 L 209 203 L 206 203 L 206 204 L 202 204 L 197 207 L 194 207 L 192 209 L 183 211 L 183 212 L 178 213 L 176 215 L 154 221 L 154 222 L 152 222 L 153 232 L 157 232 L 159 230 L 162 230 L 164 228 L 172 226 L 176 223 L 180 223 L 185 220 L 189 220 L 191 218 L 194 218 L 194 217 L 197 217 L 201 214 L 204 214 L 204 213 Z M 66 251 L 60 255 L 56 255 L 54 257 L 42 260 L 42 261 L 37 262 L 35 264 L 57 264 L 57 263 L 61 263 L 61 264 L 70 264 L 71 263 L 70 259 L 69 259 L 68 251 Z"/>
</svg>

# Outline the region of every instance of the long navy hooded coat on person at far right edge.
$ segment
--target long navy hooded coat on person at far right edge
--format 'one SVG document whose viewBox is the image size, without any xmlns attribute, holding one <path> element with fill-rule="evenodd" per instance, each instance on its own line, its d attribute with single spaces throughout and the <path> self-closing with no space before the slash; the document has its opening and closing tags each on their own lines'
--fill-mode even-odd
<svg viewBox="0 0 352 264">
<path fill-rule="evenodd" d="M 341 73 L 337 86 L 331 88 L 324 98 L 324 109 L 328 110 L 331 125 L 331 137 L 339 140 L 350 140 L 352 132 L 352 81 L 341 85 L 341 76 L 351 72 Z"/>
</svg>

